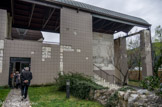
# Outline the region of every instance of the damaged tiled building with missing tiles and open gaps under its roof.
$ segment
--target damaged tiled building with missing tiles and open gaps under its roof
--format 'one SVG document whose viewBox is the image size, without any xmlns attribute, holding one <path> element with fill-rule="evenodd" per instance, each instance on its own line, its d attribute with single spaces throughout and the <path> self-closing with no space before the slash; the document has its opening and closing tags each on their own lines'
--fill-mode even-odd
<svg viewBox="0 0 162 107">
<path fill-rule="evenodd" d="M 58 73 L 99 75 L 115 83 L 127 70 L 126 38 L 141 31 L 143 76 L 152 75 L 150 24 L 145 20 L 72 0 L 2 0 L 0 4 L 0 86 L 11 73 L 30 66 L 31 84 L 53 83 Z M 59 44 L 44 44 L 40 31 L 60 34 Z M 128 36 L 128 35 L 127 35 Z M 147 54 L 146 54 L 147 53 Z M 120 56 L 120 57 L 117 57 Z M 116 59 L 120 64 L 115 65 Z"/>
</svg>

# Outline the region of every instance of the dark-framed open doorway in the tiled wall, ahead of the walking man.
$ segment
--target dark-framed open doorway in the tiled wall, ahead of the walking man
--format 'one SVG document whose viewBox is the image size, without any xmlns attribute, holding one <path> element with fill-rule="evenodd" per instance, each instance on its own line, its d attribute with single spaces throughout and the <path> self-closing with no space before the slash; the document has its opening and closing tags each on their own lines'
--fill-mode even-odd
<svg viewBox="0 0 162 107">
<path fill-rule="evenodd" d="M 9 82 L 8 85 L 13 87 L 14 81 L 14 73 L 19 72 L 21 73 L 24 67 L 30 68 L 30 58 L 20 58 L 20 57 L 11 57 L 10 58 L 10 66 L 9 66 Z"/>
</svg>

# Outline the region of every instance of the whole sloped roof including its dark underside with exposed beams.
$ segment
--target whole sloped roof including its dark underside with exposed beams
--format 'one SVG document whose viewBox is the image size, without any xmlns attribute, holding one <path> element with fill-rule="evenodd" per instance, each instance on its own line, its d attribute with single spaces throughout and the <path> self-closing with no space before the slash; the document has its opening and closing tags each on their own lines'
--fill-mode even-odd
<svg viewBox="0 0 162 107">
<path fill-rule="evenodd" d="M 0 4 L 0 8 L 6 9 L 13 16 L 13 27 L 56 33 L 60 32 L 62 7 L 92 14 L 93 32 L 128 33 L 134 26 L 151 26 L 141 18 L 73 0 L 2 0 Z"/>
</svg>

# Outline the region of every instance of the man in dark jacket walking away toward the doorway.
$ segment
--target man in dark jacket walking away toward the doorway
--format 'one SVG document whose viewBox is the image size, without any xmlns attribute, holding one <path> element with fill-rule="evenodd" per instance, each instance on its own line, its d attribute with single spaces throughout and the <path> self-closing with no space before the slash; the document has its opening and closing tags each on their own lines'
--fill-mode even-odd
<svg viewBox="0 0 162 107">
<path fill-rule="evenodd" d="M 32 79 L 32 73 L 29 71 L 29 67 L 25 67 L 25 70 L 21 72 L 20 78 L 21 78 L 21 95 L 23 100 L 26 99 L 27 97 L 28 87 Z"/>
</svg>

